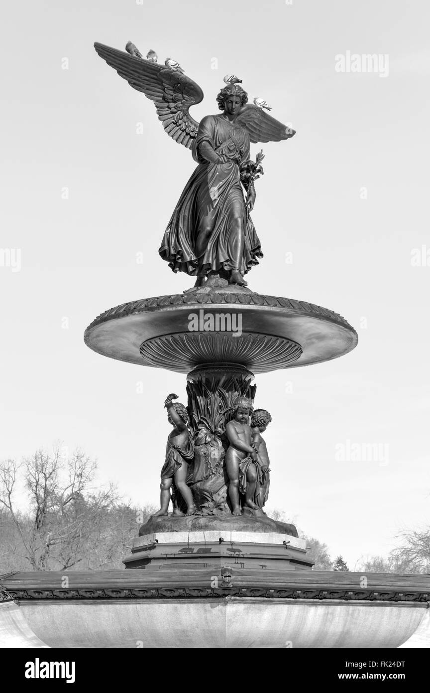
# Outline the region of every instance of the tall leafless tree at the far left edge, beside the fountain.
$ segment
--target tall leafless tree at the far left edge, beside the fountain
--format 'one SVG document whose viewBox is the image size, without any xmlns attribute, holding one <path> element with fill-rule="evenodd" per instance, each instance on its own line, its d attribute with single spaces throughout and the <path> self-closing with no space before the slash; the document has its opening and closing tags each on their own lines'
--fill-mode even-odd
<svg viewBox="0 0 430 693">
<path fill-rule="evenodd" d="M 95 546 L 103 514 L 115 506 L 118 494 L 110 485 L 93 488 L 96 463 L 82 450 L 64 459 L 59 446 L 53 453 L 37 452 L 17 464 L 0 464 L 0 505 L 12 520 L 21 551 L 33 570 L 66 570 L 84 559 L 88 544 Z M 22 471 L 30 497 L 30 514 L 19 514 L 13 495 Z"/>
</svg>

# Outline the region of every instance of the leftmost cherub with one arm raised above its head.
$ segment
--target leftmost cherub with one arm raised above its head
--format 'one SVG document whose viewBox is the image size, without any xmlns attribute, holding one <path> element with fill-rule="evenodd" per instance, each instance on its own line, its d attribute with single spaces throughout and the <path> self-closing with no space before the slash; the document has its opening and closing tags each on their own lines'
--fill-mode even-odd
<svg viewBox="0 0 430 693">
<path fill-rule="evenodd" d="M 187 426 L 188 412 L 183 404 L 174 403 L 171 398 L 172 396 L 169 395 L 165 399 L 165 407 L 167 408 L 167 420 L 174 427 L 174 430 L 169 433 L 167 438 L 166 461 L 161 470 L 160 510 L 153 517 L 167 515 L 172 484 L 175 486 L 175 491 L 179 491 L 187 504 L 186 514 L 194 515 L 196 511 L 191 489 L 185 482 L 189 462 L 194 457 L 194 443 Z M 176 514 L 180 514 L 177 509 Z"/>
</svg>

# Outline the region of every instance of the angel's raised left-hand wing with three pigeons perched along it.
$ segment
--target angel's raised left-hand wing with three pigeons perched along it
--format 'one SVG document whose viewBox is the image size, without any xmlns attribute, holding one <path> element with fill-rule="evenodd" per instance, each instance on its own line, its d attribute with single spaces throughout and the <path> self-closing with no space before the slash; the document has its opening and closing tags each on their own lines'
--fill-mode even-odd
<svg viewBox="0 0 430 693">
<path fill-rule="evenodd" d="M 203 100 L 203 91 L 196 82 L 178 70 L 103 44 L 95 43 L 94 48 L 133 89 L 143 91 L 155 103 L 158 119 L 169 137 L 191 149 L 198 122 L 188 110 Z"/>
</svg>

